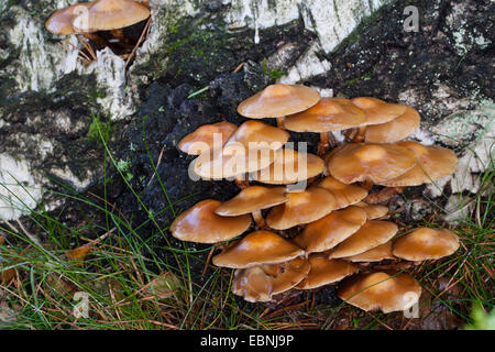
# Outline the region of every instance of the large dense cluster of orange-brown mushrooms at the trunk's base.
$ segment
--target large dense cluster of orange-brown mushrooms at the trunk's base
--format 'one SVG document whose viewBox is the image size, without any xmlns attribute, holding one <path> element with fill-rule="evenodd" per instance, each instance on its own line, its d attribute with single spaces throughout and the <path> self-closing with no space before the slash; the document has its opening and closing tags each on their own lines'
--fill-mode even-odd
<svg viewBox="0 0 495 352">
<path fill-rule="evenodd" d="M 339 297 L 364 310 L 416 304 L 421 286 L 409 274 L 370 267 L 386 260 L 438 260 L 458 250 L 459 238 L 420 228 L 395 239 L 399 229 L 386 221 L 388 208 L 365 200 L 373 185 L 417 186 L 454 170 L 451 151 L 403 141 L 418 128 L 419 113 L 375 98 L 320 98 L 297 85 L 270 86 L 238 111 L 256 120 L 202 125 L 178 147 L 197 155 L 197 175 L 234 178 L 241 191 L 223 202 L 195 205 L 173 222 L 172 234 L 198 243 L 229 241 L 212 263 L 235 270 L 233 293 L 251 302 L 340 283 Z M 278 127 L 262 118 L 276 118 Z M 320 133 L 319 155 L 286 147 L 286 130 Z M 330 143 L 332 131 L 344 131 L 346 143 Z M 288 188 L 300 182 L 308 185 L 304 190 Z M 252 218 L 254 231 L 230 241 L 252 229 Z"/>
</svg>

